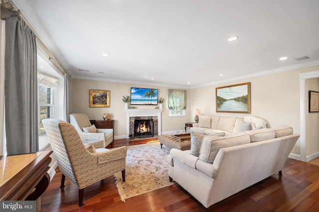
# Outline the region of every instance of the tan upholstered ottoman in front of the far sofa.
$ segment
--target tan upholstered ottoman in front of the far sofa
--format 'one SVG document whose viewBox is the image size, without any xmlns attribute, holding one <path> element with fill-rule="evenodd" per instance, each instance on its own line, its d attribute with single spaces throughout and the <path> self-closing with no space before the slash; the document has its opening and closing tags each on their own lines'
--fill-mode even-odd
<svg viewBox="0 0 319 212">
<path fill-rule="evenodd" d="M 159 136 L 160 148 L 164 144 L 168 148 L 176 148 L 180 150 L 190 149 L 190 135 L 189 138 L 176 138 L 174 135 L 161 135 Z"/>
</svg>

